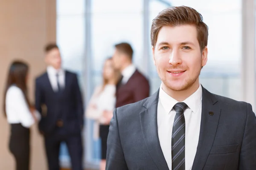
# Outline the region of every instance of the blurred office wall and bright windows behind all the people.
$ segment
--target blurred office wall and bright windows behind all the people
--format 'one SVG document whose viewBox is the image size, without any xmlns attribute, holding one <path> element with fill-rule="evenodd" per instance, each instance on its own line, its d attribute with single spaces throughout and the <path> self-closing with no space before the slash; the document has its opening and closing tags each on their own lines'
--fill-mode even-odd
<svg viewBox="0 0 256 170">
<path fill-rule="evenodd" d="M 113 54 L 114 44 L 129 42 L 134 63 L 150 80 L 151 94 L 160 85 L 153 64 L 150 27 L 152 19 L 169 6 L 191 6 L 209 26 L 208 62 L 200 75 L 209 91 L 255 106 L 255 0 L 1 0 L 0 82 L 12 59 L 25 59 L 31 66 L 30 97 L 34 78 L 44 71 L 43 47 L 56 41 L 63 66 L 79 75 L 84 105 L 101 82 L 102 65 Z M 0 96 L 3 96 L 0 83 Z M 2 98 L 0 98 L 2 103 Z M 255 110 L 254 110 L 255 111 Z M 3 115 L 3 114 L 1 114 Z M 13 169 L 8 151 L 9 126 L 0 116 L 0 169 Z M 93 122 L 84 128 L 84 164 L 97 169 L 100 140 L 93 141 Z M 32 130 L 32 170 L 46 170 L 44 145 L 37 127 Z M 64 144 L 61 164 L 70 167 Z"/>
</svg>

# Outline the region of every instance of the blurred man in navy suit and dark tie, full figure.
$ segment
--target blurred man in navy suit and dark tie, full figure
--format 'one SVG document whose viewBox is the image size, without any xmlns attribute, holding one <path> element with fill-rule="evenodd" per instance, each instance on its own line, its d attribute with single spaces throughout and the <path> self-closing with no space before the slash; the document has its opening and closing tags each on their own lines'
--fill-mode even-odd
<svg viewBox="0 0 256 170">
<path fill-rule="evenodd" d="M 45 48 L 47 71 L 35 81 L 35 106 L 42 114 L 39 130 L 44 135 L 49 170 L 59 170 L 61 142 L 67 144 L 73 170 L 82 170 L 83 102 L 76 74 L 61 68 L 56 44 Z"/>
</svg>

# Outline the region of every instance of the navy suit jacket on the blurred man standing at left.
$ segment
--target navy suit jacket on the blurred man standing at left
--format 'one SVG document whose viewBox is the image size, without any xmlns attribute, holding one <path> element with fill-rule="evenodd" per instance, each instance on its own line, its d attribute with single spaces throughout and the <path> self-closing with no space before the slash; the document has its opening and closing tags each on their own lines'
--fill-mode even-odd
<svg viewBox="0 0 256 170">
<path fill-rule="evenodd" d="M 53 91 L 47 73 L 38 77 L 35 81 L 35 107 L 42 114 L 39 130 L 45 135 L 55 132 L 58 120 L 63 121 L 61 133 L 80 133 L 84 110 L 76 74 L 65 71 L 65 88 L 61 93 Z"/>
</svg>

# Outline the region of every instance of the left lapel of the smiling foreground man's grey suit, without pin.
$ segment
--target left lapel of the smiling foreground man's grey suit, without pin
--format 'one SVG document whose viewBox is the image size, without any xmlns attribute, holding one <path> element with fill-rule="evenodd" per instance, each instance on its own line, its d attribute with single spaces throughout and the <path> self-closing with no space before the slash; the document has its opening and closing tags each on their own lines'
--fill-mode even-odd
<svg viewBox="0 0 256 170">
<path fill-rule="evenodd" d="M 169 170 L 158 138 L 157 104 L 159 91 L 148 98 L 143 105 L 146 109 L 140 113 L 140 124 L 148 152 L 159 170 Z"/>
</svg>

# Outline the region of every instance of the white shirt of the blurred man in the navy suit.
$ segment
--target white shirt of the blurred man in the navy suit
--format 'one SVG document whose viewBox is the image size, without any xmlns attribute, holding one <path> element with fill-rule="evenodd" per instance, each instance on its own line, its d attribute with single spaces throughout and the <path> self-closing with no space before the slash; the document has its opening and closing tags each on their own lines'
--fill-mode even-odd
<svg viewBox="0 0 256 170">
<path fill-rule="evenodd" d="M 58 91 L 57 74 L 60 87 L 65 88 L 65 71 L 63 69 L 56 70 L 52 66 L 48 66 L 47 74 L 49 77 L 49 81 L 52 85 L 53 91 Z"/>
</svg>

